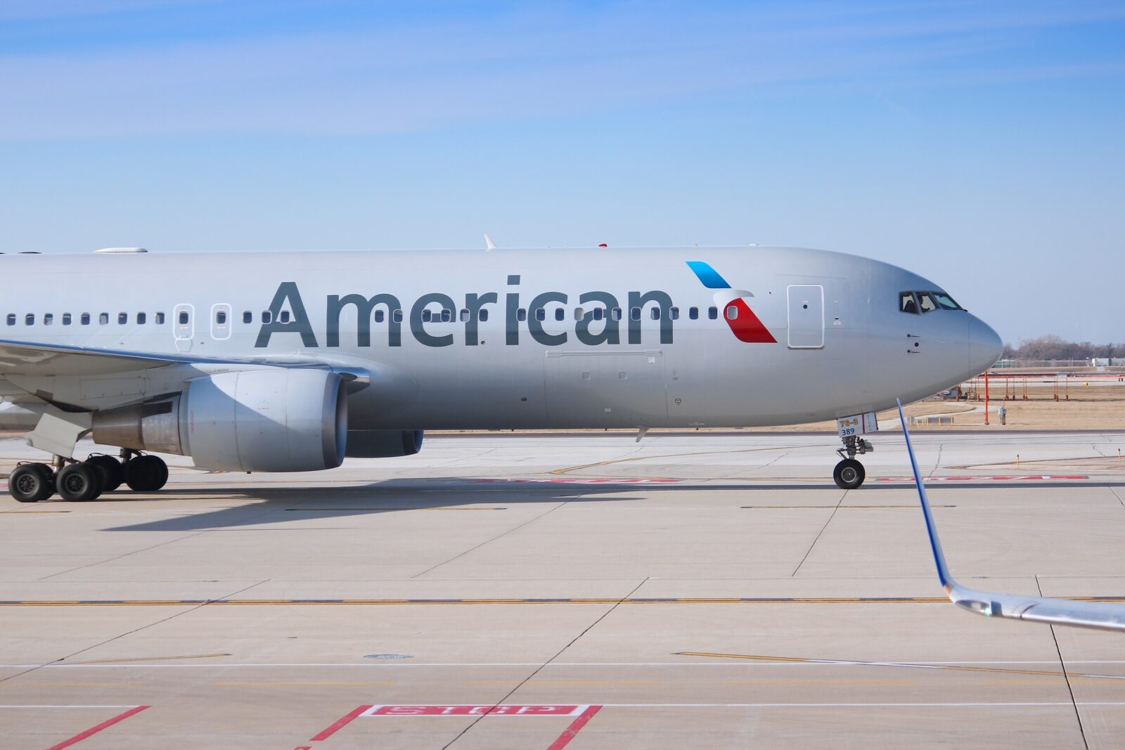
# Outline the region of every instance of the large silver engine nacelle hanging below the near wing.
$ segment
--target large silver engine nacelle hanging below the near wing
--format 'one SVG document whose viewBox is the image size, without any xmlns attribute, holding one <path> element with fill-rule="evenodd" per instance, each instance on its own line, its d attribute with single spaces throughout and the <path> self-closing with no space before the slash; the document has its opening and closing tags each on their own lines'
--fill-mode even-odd
<svg viewBox="0 0 1125 750">
<path fill-rule="evenodd" d="M 223 372 L 181 395 L 96 413 L 93 439 L 190 455 L 206 469 L 334 469 L 348 444 L 346 389 L 325 370 Z"/>
</svg>

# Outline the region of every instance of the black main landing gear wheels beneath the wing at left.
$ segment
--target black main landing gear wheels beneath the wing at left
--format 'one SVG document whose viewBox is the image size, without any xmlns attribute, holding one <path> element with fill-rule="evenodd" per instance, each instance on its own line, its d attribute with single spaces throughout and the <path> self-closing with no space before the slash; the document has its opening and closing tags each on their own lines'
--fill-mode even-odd
<svg viewBox="0 0 1125 750">
<path fill-rule="evenodd" d="M 87 501 L 122 485 L 137 493 L 155 493 L 168 481 L 168 464 L 155 455 L 130 449 L 122 458 L 91 455 L 86 461 L 55 457 L 54 466 L 20 463 L 8 477 L 8 491 L 20 503 L 38 503 L 55 493 L 64 500 Z"/>
</svg>

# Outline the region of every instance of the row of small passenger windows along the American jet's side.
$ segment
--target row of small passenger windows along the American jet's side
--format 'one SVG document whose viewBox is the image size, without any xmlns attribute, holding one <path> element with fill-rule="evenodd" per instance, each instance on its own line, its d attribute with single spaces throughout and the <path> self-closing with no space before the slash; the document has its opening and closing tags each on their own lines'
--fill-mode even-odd
<svg viewBox="0 0 1125 750">
<path fill-rule="evenodd" d="M 575 320 L 582 320 L 586 316 L 586 311 L 587 310 L 584 310 L 580 307 L 576 307 L 574 309 L 574 319 Z M 528 309 L 521 307 L 521 308 L 519 308 L 516 310 L 515 317 L 520 322 L 526 320 L 528 319 L 528 313 L 529 313 Z M 591 308 L 588 310 L 588 313 L 590 313 L 591 317 L 594 320 L 602 320 L 602 319 L 604 319 L 606 317 L 609 317 L 609 318 L 611 318 L 613 320 L 620 320 L 621 316 L 622 316 L 622 309 L 620 307 L 612 307 L 612 308 L 594 307 L 594 308 Z M 540 322 L 541 320 L 546 320 L 547 319 L 547 309 L 543 308 L 543 307 L 537 307 L 537 308 L 534 308 L 534 309 L 531 310 L 531 315 L 536 318 L 536 320 L 540 320 Z M 708 318 L 710 318 L 712 320 L 717 319 L 719 317 L 719 308 L 717 308 L 717 307 L 709 307 L 709 308 L 706 308 L 706 316 L 708 316 Z M 273 316 L 272 316 L 272 314 L 269 310 L 264 310 L 261 314 L 260 317 L 261 317 L 261 322 L 262 323 L 271 323 Z M 478 319 L 482 323 L 486 323 L 488 320 L 488 310 L 482 308 L 478 311 L 477 317 L 478 317 Z M 564 309 L 561 307 L 555 308 L 555 315 L 554 315 L 554 317 L 555 317 L 556 320 L 565 320 L 566 319 L 566 309 Z M 633 320 L 640 320 L 640 318 L 641 318 L 641 308 L 639 308 L 639 307 L 632 307 L 632 308 L 630 308 L 629 309 L 629 317 L 630 317 L 630 319 L 633 319 Z M 660 308 L 659 307 L 652 307 L 649 310 L 649 317 L 651 319 L 654 319 L 654 320 L 659 320 L 660 319 Z M 680 319 L 680 308 L 678 307 L 670 307 L 670 308 L 668 308 L 668 317 L 672 318 L 673 320 L 678 320 Z M 700 317 L 700 308 L 698 308 L 698 307 L 688 307 L 687 308 L 687 317 L 691 318 L 692 320 L 698 320 L 699 317 Z M 736 308 L 735 306 L 729 307 L 728 310 L 727 310 L 727 317 L 729 317 L 731 319 L 738 317 L 738 308 Z M 403 311 L 402 310 L 392 310 L 390 318 L 395 323 L 402 323 L 403 322 Z M 130 319 L 136 325 L 145 325 L 145 324 L 148 323 L 148 315 L 146 313 L 136 313 L 135 315 L 132 315 L 132 316 L 128 313 L 118 313 L 117 314 L 117 324 L 118 325 L 128 325 L 128 323 L 129 323 Z M 153 323 L 155 325 L 164 325 L 164 314 L 163 313 L 156 313 L 156 314 L 154 314 L 152 316 L 152 319 L 153 319 Z M 278 322 L 280 322 L 280 323 L 289 323 L 291 319 L 292 318 L 291 318 L 291 316 L 289 314 L 289 310 L 281 310 L 281 313 L 278 315 Z M 375 310 L 375 322 L 376 323 L 382 323 L 385 319 L 386 319 L 386 314 L 384 313 L 384 310 Z M 452 319 L 453 319 L 453 310 L 450 310 L 450 309 L 442 309 L 442 310 L 424 309 L 424 310 L 422 310 L 422 322 L 423 323 L 450 323 L 450 322 L 452 322 Z M 462 323 L 469 319 L 469 311 L 467 309 L 462 309 L 461 310 L 461 313 L 460 313 L 460 319 L 461 319 Z M 70 313 L 63 313 L 61 316 L 58 316 L 58 320 L 63 325 L 71 325 L 74 322 L 74 319 L 73 319 L 73 317 L 71 316 Z M 101 314 L 98 315 L 98 325 L 109 325 L 109 320 L 110 320 L 110 314 L 109 313 L 101 313 Z M 8 325 L 16 325 L 18 322 L 19 322 L 19 316 L 17 316 L 15 313 L 9 313 L 8 314 L 8 317 L 7 317 L 7 324 Z M 215 323 L 216 323 L 216 325 L 226 325 L 226 322 L 227 322 L 226 310 L 216 310 L 215 311 Z M 242 314 L 242 322 L 246 323 L 246 324 L 253 323 L 254 322 L 254 314 L 251 313 L 250 310 L 246 310 L 245 313 Z M 55 323 L 55 315 L 53 313 L 45 313 L 43 315 L 43 325 L 54 325 L 54 323 Z M 79 324 L 80 325 L 90 325 L 91 323 L 93 323 L 93 317 L 89 313 L 82 313 L 79 316 Z M 187 310 L 180 310 L 180 313 L 177 316 L 177 323 L 179 325 L 188 325 L 189 323 L 191 323 L 191 316 L 188 314 Z M 35 313 L 28 313 L 27 315 L 24 316 L 24 325 L 35 325 Z"/>
</svg>

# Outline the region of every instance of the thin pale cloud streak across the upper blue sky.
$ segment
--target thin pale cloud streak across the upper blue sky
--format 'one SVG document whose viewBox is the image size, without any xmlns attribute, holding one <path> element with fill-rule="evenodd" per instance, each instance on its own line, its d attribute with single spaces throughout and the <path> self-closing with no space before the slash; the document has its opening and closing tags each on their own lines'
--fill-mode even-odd
<svg viewBox="0 0 1125 750">
<path fill-rule="evenodd" d="M 141 4 L 147 3 L 101 7 Z M 943 4 L 916 9 L 921 18 L 883 7 L 824 10 L 547 7 L 488 19 L 398 19 L 338 33 L 12 55 L 0 57 L 0 138 L 352 135 L 683 101 L 764 83 L 954 84 L 1006 69 L 1020 80 L 1036 70 L 1041 78 L 1106 75 L 1118 71 L 1116 63 L 1005 65 L 1002 55 L 1022 42 L 999 31 L 1125 13 L 1092 4 L 1023 11 Z M 948 61 L 957 61 L 956 70 L 945 70 Z"/>
</svg>

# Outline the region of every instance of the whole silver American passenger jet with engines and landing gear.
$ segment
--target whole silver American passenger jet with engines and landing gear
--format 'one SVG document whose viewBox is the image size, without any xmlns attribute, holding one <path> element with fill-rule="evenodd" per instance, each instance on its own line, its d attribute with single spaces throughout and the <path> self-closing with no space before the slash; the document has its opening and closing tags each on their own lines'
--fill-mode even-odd
<svg viewBox="0 0 1125 750">
<path fill-rule="evenodd" d="M 155 491 L 188 455 L 313 471 L 426 430 L 838 419 L 852 489 L 875 412 L 963 382 L 999 336 L 889 263 L 792 247 L 0 255 L 0 428 L 50 461 L 20 501 Z M 117 457 L 74 457 L 92 434 Z"/>
</svg>

